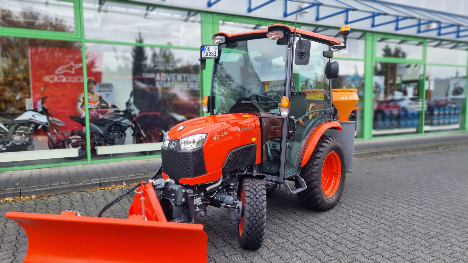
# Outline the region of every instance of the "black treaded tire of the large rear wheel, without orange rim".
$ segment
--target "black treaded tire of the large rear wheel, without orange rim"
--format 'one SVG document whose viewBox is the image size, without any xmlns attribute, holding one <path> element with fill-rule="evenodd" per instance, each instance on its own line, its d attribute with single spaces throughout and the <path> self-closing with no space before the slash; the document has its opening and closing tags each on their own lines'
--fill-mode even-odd
<svg viewBox="0 0 468 263">
<path fill-rule="evenodd" d="M 332 197 L 327 197 L 322 190 L 322 168 L 325 158 L 332 151 L 335 151 L 340 156 L 341 180 L 336 193 Z M 301 168 L 300 175 L 304 178 L 307 185 L 306 190 L 297 194 L 301 203 L 315 211 L 327 211 L 333 208 L 343 193 L 344 181 L 346 179 L 344 148 L 340 140 L 336 137 L 322 135 L 309 161 Z M 296 187 L 298 187 L 297 183 Z"/>
</svg>

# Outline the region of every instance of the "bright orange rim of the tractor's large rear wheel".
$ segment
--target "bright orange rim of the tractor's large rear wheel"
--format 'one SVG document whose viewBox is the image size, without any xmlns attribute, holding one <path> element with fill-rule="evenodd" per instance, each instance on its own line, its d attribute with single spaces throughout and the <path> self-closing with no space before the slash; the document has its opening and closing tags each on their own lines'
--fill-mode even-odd
<svg viewBox="0 0 468 263">
<path fill-rule="evenodd" d="M 330 152 L 322 168 L 322 190 L 325 196 L 332 197 L 340 186 L 341 180 L 341 160 L 336 152 Z"/>
</svg>

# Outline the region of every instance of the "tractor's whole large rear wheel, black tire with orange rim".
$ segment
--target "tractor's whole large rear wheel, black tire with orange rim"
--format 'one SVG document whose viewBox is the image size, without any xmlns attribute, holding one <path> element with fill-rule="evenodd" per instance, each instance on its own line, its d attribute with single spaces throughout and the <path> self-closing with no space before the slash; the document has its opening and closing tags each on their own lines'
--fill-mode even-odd
<svg viewBox="0 0 468 263">
<path fill-rule="evenodd" d="M 297 194 L 303 205 L 316 211 L 327 211 L 338 203 L 346 178 L 344 156 L 343 145 L 338 139 L 322 136 L 300 171 L 307 185 L 306 190 Z"/>
</svg>

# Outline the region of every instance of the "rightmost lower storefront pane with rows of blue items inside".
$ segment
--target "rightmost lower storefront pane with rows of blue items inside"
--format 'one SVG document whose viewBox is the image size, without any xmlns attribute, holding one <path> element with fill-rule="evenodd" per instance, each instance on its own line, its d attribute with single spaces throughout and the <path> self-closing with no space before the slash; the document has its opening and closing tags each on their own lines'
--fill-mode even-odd
<svg viewBox="0 0 468 263">
<path fill-rule="evenodd" d="M 426 67 L 424 132 L 460 130 L 467 98 L 467 68 Z"/>
</svg>

